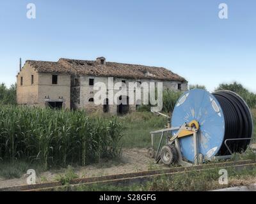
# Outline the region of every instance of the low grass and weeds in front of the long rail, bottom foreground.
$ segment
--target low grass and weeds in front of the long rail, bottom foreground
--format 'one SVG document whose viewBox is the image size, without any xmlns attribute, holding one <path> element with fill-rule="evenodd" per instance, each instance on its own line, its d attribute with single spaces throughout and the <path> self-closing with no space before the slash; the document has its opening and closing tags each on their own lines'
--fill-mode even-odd
<svg viewBox="0 0 256 204">
<path fill-rule="evenodd" d="M 82 184 L 75 186 L 70 191 L 211 191 L 214 189 L 221 189 L 225 187 L 233 187 L 243 185 L 236 180 L 250 180 L 256 176 L 256 168 L 244 168 L 236 170 L 233 167 L 225 168 L 228 171 L 228 180 L 230 184 L 220 185 L 219 168 L 203 171 L 184 171 L 173 175 L 163 175 L 157 177 L 145 184 L 131 184 L 131 185 L 109 185 L 109 184 Z M 65 189 L 63 189 L 65 190 Z"/>
</svg>

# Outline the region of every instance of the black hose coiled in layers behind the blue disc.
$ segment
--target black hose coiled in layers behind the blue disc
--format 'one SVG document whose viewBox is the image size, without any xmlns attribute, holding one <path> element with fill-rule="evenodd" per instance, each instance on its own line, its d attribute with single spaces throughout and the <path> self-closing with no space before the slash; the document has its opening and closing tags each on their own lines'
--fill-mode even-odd
<svg viewBox="0 0 256 204">
<path fill-rule="evenodd" d="M 218 91 L 213 94 L 219 101 L 225 117 L 225 136 L 218 155 L 230 154 L 224 142 L 233 138 L 252 138 L 253 121 L 250 109 L 244 100 L 234 92 Z M 250 140 L 228 141 L 229 149 L 234 152 L 246 150 Z"/>
</svg>

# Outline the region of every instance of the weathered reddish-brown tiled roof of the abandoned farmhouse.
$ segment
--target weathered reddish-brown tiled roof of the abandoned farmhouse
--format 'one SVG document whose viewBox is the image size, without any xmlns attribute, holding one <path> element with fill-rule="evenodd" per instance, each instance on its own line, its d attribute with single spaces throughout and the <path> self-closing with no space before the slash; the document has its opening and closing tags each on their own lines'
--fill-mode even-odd
<svg viewBox="0 0 256 204">
<path fill-rule="evenodd" d="M 121 78 L 152 78 L 161 80 L 175 80 L 186 82 L 183 77 L 173 73 L 166 68 L 143 66 L 138 64 L 122 64 L 106 62 L 100 64 L 98 61 L 85 61 L 75 59 L 63 59 L 58 62 L 26 61 L 38 72 L 47 73 L 76 73 L 77 75 L 121 77 Z"/>
</svg>

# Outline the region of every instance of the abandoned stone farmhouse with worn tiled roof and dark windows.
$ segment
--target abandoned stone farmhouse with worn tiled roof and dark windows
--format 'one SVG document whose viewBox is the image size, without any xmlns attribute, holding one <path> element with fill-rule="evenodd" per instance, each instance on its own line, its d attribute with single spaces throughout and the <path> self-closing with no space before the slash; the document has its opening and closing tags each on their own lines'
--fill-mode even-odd
<svg viewBox="0 0 256 204">
<path fill-rule="evenodd" d="M 113 77 L 114 84 L 122 82 L 163 82 L 163 89 L 186 91 L 188 82 L 165 68 L 106 62 L 104 57 L 95 61 L 60 59 L 58 62 L 26 61 L 17 74 L 17 103 L 28 106 L 85 109 L 88 112 L 127 113 L 136 110 L 129 96 L 127 105 L 95 105 L 93 85 Z M 108 87 L 109 89 L 110 87 Z M 108 90 L 107 89 L 107 90 Z M 127 88 L 128 89 L 128 88 Z M 109 91 L 109 90 L 108 90 Z M 118 90 L 113 90 L 118 92 Z M 106 93 L 108 96 L 108 92 Z M 122 96 L 119 96 L 119 99 Z M 129 105 L 131 103 L 132 105 Z"/>
</svg>

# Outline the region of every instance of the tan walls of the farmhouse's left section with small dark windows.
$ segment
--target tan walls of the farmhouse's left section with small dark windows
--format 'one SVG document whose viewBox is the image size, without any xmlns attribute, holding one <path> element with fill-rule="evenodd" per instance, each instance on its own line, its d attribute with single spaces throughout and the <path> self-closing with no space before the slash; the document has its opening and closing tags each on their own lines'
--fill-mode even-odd
<svg viewBox="0 0 256 204">
<path fill-rule="evenodd" d="M 31 75 L 34 82 L 31 83 Z M 54 74 L 55 75 L 55 74 Z M 45 101 L 62 101 L 63 108 L 70 108 L 70 75 L 58 75 L 58 84 L 52 84 L 52 73 L 38 73 L 25 64 L 17 75 L 17 103 L 45 107 Z M 22 85 L 20 83 L 22 77 Z"/>
</svg>

